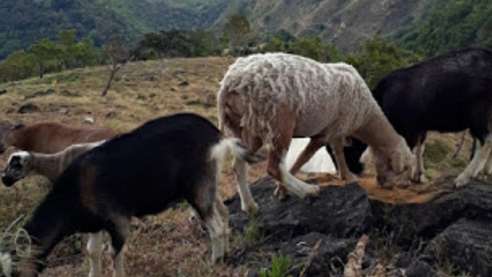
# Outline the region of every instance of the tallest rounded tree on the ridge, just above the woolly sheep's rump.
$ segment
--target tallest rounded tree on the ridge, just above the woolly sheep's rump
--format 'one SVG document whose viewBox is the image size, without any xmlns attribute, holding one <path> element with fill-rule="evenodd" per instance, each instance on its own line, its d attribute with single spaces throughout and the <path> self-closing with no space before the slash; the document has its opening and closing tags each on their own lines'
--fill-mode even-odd
<svg viewBox="0 0 492 277">
<path fill-rule="evenodd" d="M 255 39 L 249 21 L 244 15 L 230 15 L 222 29 L 222 35 L 233 55 L 247 53 L 248 47 Z"/>
</svg>

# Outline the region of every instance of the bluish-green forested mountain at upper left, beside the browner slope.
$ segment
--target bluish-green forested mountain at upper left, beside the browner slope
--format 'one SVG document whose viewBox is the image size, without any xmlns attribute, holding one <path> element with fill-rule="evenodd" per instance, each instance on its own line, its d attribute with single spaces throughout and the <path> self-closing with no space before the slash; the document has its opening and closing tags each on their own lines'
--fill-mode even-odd
<svg viewBox="0 0 492 277">
<path fill-rule="evenodd" d="M 225 1 L 197 0 L 1 0 L 0 58 L 27 48 L 60 30 L 75 29 L 78 38 L 91 37 L 100 46 L 111 35 L 131 43 L 144 33 L 211 25 Z"/>
</svg>

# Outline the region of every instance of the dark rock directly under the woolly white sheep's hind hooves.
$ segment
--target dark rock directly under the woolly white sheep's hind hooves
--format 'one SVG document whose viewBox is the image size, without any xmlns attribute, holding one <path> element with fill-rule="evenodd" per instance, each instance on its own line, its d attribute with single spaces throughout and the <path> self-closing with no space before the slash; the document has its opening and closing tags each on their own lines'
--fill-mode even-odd
<svg viewBox="0 0 492 277">
<path fill-rule="evenodd" d="M 275 181 L 266 177 L 250 188 L 259 205 L 255 215 L 259 229 L 270 240 L 289 240 L 311 232 L 337 238 L 361 235 L 370 230 L 372 213 L 365 190 L 356 184 L 345 187 L 327 186 L 319 197 L 300 199 L 292 196 L 283 202 L 273 198 Z M 226 204 L 230 211 L 230 226 L 244 231 L 248 216 L 241 211 L 239 197 L 235 195 Z"/>
</svg>

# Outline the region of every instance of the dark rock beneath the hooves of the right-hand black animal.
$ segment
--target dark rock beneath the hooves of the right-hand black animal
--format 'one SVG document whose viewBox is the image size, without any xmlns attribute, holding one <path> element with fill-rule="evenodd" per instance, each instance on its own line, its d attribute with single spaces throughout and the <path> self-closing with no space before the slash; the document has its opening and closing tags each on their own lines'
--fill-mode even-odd
<svg viewBox="0 0 492 277">
<path fill-rule="evenodd" d="M 473 181 L 423 204 L 385 204 L 372 201 L 375 226 L 410 245 L 430 240 L 461 218 L 492 220 L 492 186 Z"/>
</svg>

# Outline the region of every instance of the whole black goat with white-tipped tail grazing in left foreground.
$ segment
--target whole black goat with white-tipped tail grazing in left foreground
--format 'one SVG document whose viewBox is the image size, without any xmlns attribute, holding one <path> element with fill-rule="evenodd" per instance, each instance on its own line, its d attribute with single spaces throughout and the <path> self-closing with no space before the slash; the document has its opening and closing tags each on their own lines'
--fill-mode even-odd
<svg viewBox="0 0 492 277">
<path fill-rule="evenodd" d="M 212 261 L 221 259 L 228 236 L 228 211 L 216 192 L 221 161 L 228 148 L 237 158 L 254 158 L 239 140 L 221 136 L 201 116 L 176 114 L 80 154 L 24 225 L 32 238 L 31 255 L 21 259 L 19 276 L 37 276 L 48 253 L 67 235 L 102 230 L 111 237 L 113 276 L 124 276 L 131 217 L 160 213 L 183 199 L 208 227 Z M 89 241 L 94 274 L 100 272 L 101 251 L 100 242 Z M 4 260 L 16 259 L 9 255 L 0 253 Z"/>
</svg>

